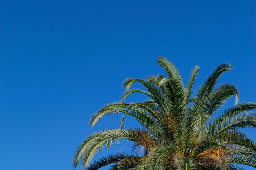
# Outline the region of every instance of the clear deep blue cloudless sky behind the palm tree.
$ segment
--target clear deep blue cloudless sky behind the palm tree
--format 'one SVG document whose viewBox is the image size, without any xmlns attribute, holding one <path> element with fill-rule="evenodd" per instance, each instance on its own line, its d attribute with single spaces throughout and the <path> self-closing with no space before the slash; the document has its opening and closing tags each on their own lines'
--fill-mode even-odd
<svg viewBox="0 0 256 170">
<path fill-rule="evenodd" d="M 120 99 L 123 79 L 162 73 L 157 55 L 185 82 L 199 65 L 195 85 L 229 62 L 220 82 L 256 102 L 255 18 L 254 0 L 1 0 L 0 169 L 72 170 L 87 135 L 119 124 L 105 117 L 91 129 L 90 115 Z"/>
</svg>

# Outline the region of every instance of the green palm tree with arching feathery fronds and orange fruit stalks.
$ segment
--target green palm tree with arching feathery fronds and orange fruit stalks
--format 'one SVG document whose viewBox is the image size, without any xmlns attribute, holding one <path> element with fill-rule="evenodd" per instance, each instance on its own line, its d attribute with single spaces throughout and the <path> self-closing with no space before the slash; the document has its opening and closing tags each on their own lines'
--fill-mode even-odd
<svg viewBox="0 0 256 170">
<path fill-rule="evenodd" d="M 79 163 L 86 170 L 109 164 L 110 170 L 242 170 L 239 164 L 256 168 L 256 143 L 241 131 L 256 127 L 256 114 L 250 112 L 256 104 L 238 103 L 238 89 L 232 84 L 216 86 L 220 75 L 232 69 L 231 65 L 219 65 L 190 97 L 199 67 L 192 69 L 184 86 L 173 64 L 163 57 L 158 57 L 157 63 L 167 77 L 158 74 L 145 80 L 125 79 L 121 102 L 103 106 L 92 115 L 89 124 L 93 127 L 104 115 L 123 114 L 120 128 L 94 133 L 78 146 L 74 168 Z M 130 89 L 134 82 L 144 90 Z M 132 93 L 143 93 L 148 99 L 125 103 Z M 210 119 L 232 96 L 234 106 Z M 135 118 L 142 128 L 122 128 L 126 115 Z M 133 147 L 142 147 L 143 152 L 118 152 L 91 163 L 98 150 L 108 148 L 114 141 L 119 144 L 121 139 L 132 141 Z"/>
</svg>

